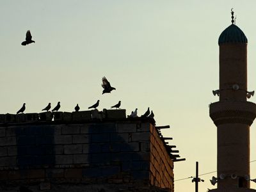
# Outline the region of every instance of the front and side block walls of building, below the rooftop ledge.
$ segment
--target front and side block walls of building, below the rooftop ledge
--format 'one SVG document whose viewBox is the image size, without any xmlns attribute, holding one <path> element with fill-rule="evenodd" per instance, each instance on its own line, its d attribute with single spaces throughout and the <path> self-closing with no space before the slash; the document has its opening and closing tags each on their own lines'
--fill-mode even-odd
<svg viewBox="0 0 256 192">
<path fill-rule="evenodd" d="M 142 183 L 172 189 L 173 163 L 166 156 L 154 125 L 140 118 L 0 125 L 0 187 Z"/>
</svg>

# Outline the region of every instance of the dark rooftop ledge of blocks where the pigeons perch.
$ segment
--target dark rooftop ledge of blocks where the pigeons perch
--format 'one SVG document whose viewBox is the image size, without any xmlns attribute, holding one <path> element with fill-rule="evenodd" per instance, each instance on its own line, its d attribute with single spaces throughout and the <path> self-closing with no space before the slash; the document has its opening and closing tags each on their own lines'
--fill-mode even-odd
<svg viewBox="0 0 256 192">
<path fill-rule="evenodd" d="M 20 113 L 20 114 L 0 114 L 0 126 L 8 124 L 76 124 L 92 122 L 116 122 L 116 121 L 140 121 L 150 122 L 155 125 L 154 118 L 126 117 L 125 109 L 97 109 L 77 112 L 43 112 L 43 113 Z"/>
</svg>

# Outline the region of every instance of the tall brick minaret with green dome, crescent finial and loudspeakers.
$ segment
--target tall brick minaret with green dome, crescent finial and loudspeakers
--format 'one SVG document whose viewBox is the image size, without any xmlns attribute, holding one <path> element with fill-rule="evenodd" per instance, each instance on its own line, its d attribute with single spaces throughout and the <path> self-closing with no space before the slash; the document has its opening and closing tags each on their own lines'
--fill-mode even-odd
<svg viewBox="0 0 256 192">
<path fill-rule="evenodd" d="M 216 192 L 255 191 L 250 189 L 250 125 L 256 105 L 246 101 L 254 93 L 247 91 L 247 38 L 233 15 L 218 40 L 220 89 L 213 93 L 220 101 L 210 105 L 218 136 L 218 188 L 211 190 Z"/>
</svg>

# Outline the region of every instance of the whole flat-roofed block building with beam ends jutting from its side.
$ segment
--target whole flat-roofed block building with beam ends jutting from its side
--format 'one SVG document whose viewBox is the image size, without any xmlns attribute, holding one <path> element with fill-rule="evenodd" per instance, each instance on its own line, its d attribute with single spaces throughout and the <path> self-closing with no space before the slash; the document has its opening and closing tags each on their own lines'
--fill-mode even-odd
<svg viewBox="0 0 256 192">
<path fill-rule="evenodd" d="M 125 110 L 0 115 L 0 191 L 173 191 L 175 145 Z"/>
</svg>

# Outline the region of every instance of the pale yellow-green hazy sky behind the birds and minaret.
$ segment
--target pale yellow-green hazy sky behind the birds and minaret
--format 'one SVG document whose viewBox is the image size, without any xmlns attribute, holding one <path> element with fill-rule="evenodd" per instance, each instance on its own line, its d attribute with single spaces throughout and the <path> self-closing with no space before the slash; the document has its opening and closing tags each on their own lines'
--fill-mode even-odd
<svg viewBox="0 0 256 192">
<path fill-rule="evenodd" d="M 99 109 L 122 101 L 127 114 L 154 111 L 186 161 L 174 164 L 175 192 L 193 191 L 184 179 L 216 171 L 216 127 L 209 104 L 218 101 L 218 37 L 236 24 L 248 38 L 248 91 L 256 81 L 256 2 L 173 0 L 0 0 L 0 113 L 39 113 L 49 102 L 61 111 Z M 20 45 L 26 31 L 35 44 Z M 101 78 L 113 90 L 102 95 Z M 249 101 L 256 102 L 252 97 Z M 251 161 L 256 160 L 256 123 L 251 126 Z M 251 164 L 256 178 L 256 161 Z M 200 176 L 199 191 L 213 189 Z M 184 180 L 179 180 L 184 179 Z M 251 184 L 256 188 L 256 184 Z"/>
</svg>

